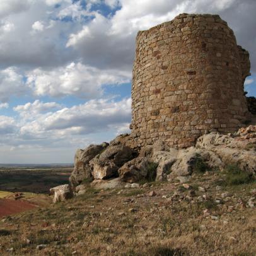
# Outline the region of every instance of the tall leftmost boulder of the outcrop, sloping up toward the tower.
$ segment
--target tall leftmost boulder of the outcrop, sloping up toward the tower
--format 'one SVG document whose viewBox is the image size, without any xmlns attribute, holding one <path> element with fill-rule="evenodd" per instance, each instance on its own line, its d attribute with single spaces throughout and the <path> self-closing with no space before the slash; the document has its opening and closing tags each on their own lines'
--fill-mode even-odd
<svg viewBox="0 0 256 256">
<path fill-rule="evenodd" d="M 74 170 L 69 177 L 72 187 L 79 185 L 84 179 L 91 177 L 90 160 L 107 148 L 108 143 L 90 145 L 86 149 L 78 149 L 74 156 Z"/>
</svg>

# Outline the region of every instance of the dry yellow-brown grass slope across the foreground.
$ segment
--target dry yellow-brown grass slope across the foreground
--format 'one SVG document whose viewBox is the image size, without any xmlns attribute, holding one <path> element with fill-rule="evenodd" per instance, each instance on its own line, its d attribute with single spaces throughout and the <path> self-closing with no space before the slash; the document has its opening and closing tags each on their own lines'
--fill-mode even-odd
<svg viewBox="0 0 256 256">
<path fill-rule="evenodd" d="M 212 184 L 220 175 L 212 172 L 190 182 L 209 186 L 207 192 L 196 191 L 211 195 L 207 202 L 171 201 L 162 196 L 172 196 L 180 185 L 156 183 L 120 194 L 91 189 L 68 202 L 6 218 L 0 221 L 0 255 L 256 255 L 255 208 L 238 204 L 252 197 L 256 184 L 225 187 L 231 199 L 217 205 L 214 198 L 221 192 Z M 157 195 L 149 197 L 153 189 Z M 204 216 L 205 208 L 218 220 Z M 37 250 L 39 244 L 47 248 Z"/>
</svg>

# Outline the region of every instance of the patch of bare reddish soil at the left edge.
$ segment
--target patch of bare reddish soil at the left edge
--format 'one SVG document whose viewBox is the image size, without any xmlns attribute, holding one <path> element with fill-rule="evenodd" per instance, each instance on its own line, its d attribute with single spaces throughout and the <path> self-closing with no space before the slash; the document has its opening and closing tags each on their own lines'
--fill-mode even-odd
<svg viewBox="0 0 256 256">
<path fill-rule="evenodd" d="M 15 214 L 18 212 L 27 211 L 36 206 L 25 201 L 0 199 L 0 217 Z"/>
</svg>

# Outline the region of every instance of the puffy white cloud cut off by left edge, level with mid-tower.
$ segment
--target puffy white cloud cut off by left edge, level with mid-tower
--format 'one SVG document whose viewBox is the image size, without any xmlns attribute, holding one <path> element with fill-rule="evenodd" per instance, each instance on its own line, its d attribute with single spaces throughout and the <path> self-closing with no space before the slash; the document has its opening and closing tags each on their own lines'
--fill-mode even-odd
<svg viewBox="0 0 256 256">
<path fill-rule="evenodd" d="M 0 71 L 0 101 L 7 102 L 10 96 L 24 95 L 28 91 L 23 76 L 15 67 Z"/>
</svg>

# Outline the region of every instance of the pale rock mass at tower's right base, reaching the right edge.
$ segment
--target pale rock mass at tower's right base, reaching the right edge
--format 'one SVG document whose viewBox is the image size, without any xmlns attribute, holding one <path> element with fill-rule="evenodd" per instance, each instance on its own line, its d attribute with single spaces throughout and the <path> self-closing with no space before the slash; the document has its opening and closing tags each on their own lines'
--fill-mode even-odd
<svg viewBox="0 0 256 256">
<path fill-rule="evenodd" d="M 238 135 L 244 134 L 246 129 L 234 137 L 211 132 L 199 137 L 196 147 L 216 154 L 225 165 L 235 164 L 245 172 L 256 173 L 256 137 L 253 137 L 256 132 L 253 129 L 250 127 L 248 134 L 252 135 L 247 139 Z"/>
</svg>

